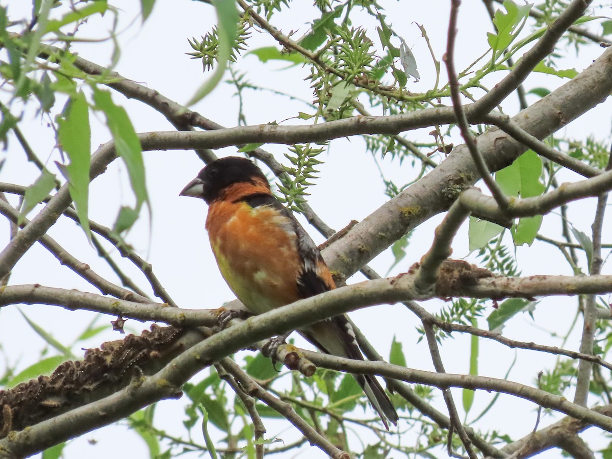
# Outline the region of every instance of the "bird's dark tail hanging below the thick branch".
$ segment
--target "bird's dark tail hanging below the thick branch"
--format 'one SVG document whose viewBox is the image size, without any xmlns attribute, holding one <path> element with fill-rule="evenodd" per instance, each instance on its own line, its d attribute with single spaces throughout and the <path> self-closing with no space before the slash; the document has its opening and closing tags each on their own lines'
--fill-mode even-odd
<svg viewBox="0 0 612 459">
<path fill-rule="evenodd" d="M 300 335 L 313 343 L 320 351 L 333 356 L 364 360 L 355 339 L 351 323 L 345 315 L 336 316 L 323 322 L 312 324 L 299 330 Z M 374 375 L 353 375 L 364 390 L 371 405 L 389 430 L 390 421 L 397 425 L 398 416 L 395 407 Z"/>
</svg>

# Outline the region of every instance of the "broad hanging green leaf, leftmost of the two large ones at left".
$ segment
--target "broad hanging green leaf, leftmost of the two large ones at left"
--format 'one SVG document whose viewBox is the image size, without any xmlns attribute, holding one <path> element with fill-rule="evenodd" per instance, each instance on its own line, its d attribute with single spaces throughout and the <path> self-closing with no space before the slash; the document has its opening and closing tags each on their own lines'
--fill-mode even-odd
<svg viewBox="0 0 612 459">
<path fill-rule="evenodd" d="M 67 174 L 70 196 L 75 203 L 81 228 L 91 241 L 88 218 L 91 130 L 89 106 L 82 91 L 70 97 L 58 118 L 58 140 L 70 159 L 70 164 L 62 170 Z"/>
</svg>

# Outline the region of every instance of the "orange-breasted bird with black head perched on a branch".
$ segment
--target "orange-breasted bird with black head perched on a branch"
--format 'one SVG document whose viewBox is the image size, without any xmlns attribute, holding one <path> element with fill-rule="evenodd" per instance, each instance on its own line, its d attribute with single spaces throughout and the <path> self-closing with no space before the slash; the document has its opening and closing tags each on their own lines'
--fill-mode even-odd
<svg viewBox="0 0 612 459">
<path fill-rule="evenodd" d="M 208 204 L 212 252 L 225 282 L 248 312 L 263 314 L 336 288 L 315 242 L 251 160 L 214 160 L 180 195 Z M 364 360 L 346 315 L 296 331 L 323 353 Z M 387 430 L 387 421 L 397 425 L 397 411 L 375 376 L 353 376 Z"/>
</svg>

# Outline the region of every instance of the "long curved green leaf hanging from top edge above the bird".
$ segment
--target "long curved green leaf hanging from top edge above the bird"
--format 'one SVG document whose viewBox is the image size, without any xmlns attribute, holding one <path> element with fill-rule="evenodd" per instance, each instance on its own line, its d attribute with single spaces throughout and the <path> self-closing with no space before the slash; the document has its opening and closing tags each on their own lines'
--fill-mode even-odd
<svg viewBox="0 0 612 459">
<path fill-rule="evenodd" d="M 238 9 L 236 8 L 236 2 L 234 0 L 214 0 L 212 2 L 217 10 L 217 31 L 219 35 L 219 54 L 218 54 L 218 65 L 215 72 L 212 74 L 209 80 L 198 88 L 193 97 L 188 100 L 185 104 L 191 106 L 196 102 L 204 99 L 209 92 L 211 92 L 217 84 L 222 80 L 223 73 L 230 60 L 232 47 L 236 42 L 236 31 L 238 28 Z"/>
</svg>

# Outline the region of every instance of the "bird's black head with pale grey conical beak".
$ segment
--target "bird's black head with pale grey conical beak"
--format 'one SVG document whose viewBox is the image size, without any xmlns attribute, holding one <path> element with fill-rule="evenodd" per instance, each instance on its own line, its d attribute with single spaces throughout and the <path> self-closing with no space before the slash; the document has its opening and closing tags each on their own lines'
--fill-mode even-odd
<svg viewBox="0 0 612 459">
<path fill-rule="evenodd" d="M 252 161 L 237 156 L 228 156 L 208 164 L 197 177 L 187 184 L 181 196 L 202 198 L 211 203 L 226 187 L 240 183 L 261 183 L 269 187 L 264 173 Z"/>
</svg>

